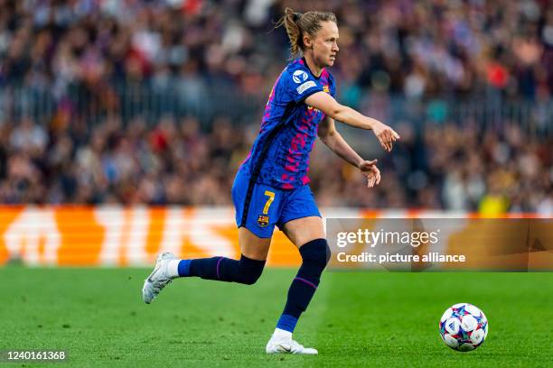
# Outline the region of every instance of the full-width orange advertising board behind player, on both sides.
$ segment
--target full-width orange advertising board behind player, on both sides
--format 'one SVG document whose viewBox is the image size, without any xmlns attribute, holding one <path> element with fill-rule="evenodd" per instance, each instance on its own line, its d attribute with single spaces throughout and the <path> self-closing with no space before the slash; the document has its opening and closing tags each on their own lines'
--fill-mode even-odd
<svg viewBox="0 0 553 368">
<path fill-rule="evenodd" d="M 323 208 L 322 213 L 328 218 L 361 220 L 476 217 L 464 213 L 363 211 L 352 208 Z M 365 220 L 365 224 L 372 223 Z M 511 226 L 509 233 L 493 226 L 497 224 L 452 220 L 447 225 L 451 235 L 444 237 L 445 242 L 436 249 L 443 253 L 474 254 L 470 262 L 466 262 L 471 268 L 501 268 L 501 257 L 493 258 L 494 262 L 500 262 L 493 265 L 480 254 L 497 255 L 502 252 L 500 248 L 519 246 L 528 235 L 524 229 L 517 231 Z M 522 256 L 536 259 L 536 262 L 530 263 L 545 265 L 546 268 L 553 264 L 553 252 L 548 247 L 551 241 L 549 234 L 553 231 L 550 227 L 536 229 L 544 234 L 539 235 L 539 239 L 545 243 L 535 246 L 536 249 L 528 254 L 520 255 L 517 251 L 511 252 L 517 254 L 510 256 L 507 252 L 505 262 L 514 262 L 511 258 Z M 487 239 L 494 234 L 502 235 L 505 240 L 488 242 Z M 517 241 L 519 237 L 520 242 Z M 420 250 L 432 252 L 435 248 L 426 249 L 423 246 Z M 163 252 L 172 252 L 181 258 L 217 255 L 238 258 L 240 251 L 234 210 L 231 207 L 0 207 L 0 265 L 21 261 L 32 266 L 146 266 L 155 262 L 157 253 Z M 295 266 L 300 261 L 295 246 L 276 229 L 267 264 Z"/>
</svg>

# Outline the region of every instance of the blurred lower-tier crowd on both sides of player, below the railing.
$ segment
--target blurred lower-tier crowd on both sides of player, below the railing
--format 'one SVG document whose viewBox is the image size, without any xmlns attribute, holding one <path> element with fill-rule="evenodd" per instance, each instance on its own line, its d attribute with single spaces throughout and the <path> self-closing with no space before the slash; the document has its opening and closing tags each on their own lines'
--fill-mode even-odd
<svg viewBox="0 0 553 368">
<path fill-rule="evenodd" d="M 234 174 L 257 132 L 256 124 L 237 128 L 224 117 L 209 133 L 193 117 L 165 117 L 152 129 L 139 119 L 126 127 L 108 119 L 91 133 L 84 125 L 46 131 L 23 119 L 0 128 L 0 200 L 230 205 Z M 310 171 L 318 204 L 553 215 L 552 139 L 517 125 L 480 132 L 470 122 L 428 125 L 424 133 L 405 124 L 398 132 L 401 143 L 380 159 L 376 189 L 318 142 Z"/>
</svg>

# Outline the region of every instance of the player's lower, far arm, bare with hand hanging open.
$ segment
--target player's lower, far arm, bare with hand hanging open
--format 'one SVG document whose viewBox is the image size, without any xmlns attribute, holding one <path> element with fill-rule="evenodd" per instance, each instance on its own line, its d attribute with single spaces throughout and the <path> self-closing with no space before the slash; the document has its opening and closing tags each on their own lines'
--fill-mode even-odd
<svg viewBox="0 0 553 368">
<path fill-rule="evenodd" d="M 319 124 L 318 135 L 321 141 L 342 160 L 361 170 L 361 174 L 367 178 L 367 187 L 372 188 L 380 183 L 380 170 L 376 166 L 377 160 L 363 160 L 350 144 L 345 142 L 342 134 L 338 133 L 332 117 L 325 116 L 323 118 Z"/>
</svg>

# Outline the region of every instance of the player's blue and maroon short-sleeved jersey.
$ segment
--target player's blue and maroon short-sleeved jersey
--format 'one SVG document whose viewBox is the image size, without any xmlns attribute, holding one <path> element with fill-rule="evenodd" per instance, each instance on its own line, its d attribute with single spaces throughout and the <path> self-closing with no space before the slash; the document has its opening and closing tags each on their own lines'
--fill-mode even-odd
<svg viewBox="0 0 553 368">
<path fill-rule="evenodd" d="M 334 78 L 323 69 L 316 78 L 305 59 L 290 62 L 277 78 L 268 97 L 258 138 L 240 170 L 260 184 L 295 189 L 309 182 L 309 153 L 324 114 L 305 104 L 316 92 L 334 97 Z"/>
</svg>

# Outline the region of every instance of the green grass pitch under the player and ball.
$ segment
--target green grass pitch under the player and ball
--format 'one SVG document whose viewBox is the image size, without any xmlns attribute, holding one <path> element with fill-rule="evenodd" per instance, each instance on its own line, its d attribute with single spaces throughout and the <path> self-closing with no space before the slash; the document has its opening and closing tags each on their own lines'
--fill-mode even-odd
<svg viewBox="0 0 553 368">
<path fill-rule="evenodd" d="M 0 350 L 67 350 L 57 367 L 553 366 L 553 273 L 326 271 L 295 331 L 319 355 L 296 356 L 264 353 L 295 270 L 253 286 L 176 280 L 145 305 L 148 272 L 0 268 Z M 490 322 L 470 353 L 438 334 L 457 302 Z"/>
</svg>

